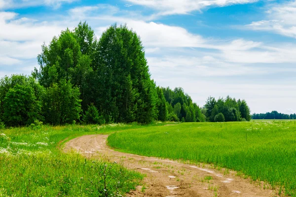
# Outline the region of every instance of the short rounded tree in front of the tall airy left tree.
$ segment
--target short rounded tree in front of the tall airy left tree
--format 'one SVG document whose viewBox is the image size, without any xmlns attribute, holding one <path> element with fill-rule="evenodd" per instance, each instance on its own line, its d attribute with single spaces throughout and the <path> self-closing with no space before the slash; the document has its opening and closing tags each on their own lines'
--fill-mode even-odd
<svg viewBox="0 0 296 197">
<path fill-rule="evenodd" d="M 43 99 L 43 115 L 46 123 L 53 125 L 72 124 L 80 118 L 81 100 L 77 87 L 70 81 L 61 80 L 46 89 Z"/>
</svg>

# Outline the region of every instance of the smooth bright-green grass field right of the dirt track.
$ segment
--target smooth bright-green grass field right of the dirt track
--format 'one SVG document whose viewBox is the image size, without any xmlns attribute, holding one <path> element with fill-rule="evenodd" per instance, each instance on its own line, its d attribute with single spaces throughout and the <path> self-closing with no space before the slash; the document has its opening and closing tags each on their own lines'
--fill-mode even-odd
<svg viewBox="0 0 296 197">
<path fill-rule="evenodd" d="M 296 121 L 147 127 L 115 132 L 108 142 L 123 152 L 233 169 L 296 197 Z"/>
</svg>

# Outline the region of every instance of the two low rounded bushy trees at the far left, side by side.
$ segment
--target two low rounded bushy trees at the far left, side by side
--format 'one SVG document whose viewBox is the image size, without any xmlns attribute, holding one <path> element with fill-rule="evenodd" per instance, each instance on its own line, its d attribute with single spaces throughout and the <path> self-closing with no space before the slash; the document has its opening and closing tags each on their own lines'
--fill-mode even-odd
<svg viewBox="0 0 296 197">
<path fill-rule="evenodd" d="M 7 126 L 37 121 L 59 125 L 80 118 L 79 89 L 61 80 L 44 88 L 32 76 L 12 75 L 0 80 L 0 119 Z"/>
</svg>

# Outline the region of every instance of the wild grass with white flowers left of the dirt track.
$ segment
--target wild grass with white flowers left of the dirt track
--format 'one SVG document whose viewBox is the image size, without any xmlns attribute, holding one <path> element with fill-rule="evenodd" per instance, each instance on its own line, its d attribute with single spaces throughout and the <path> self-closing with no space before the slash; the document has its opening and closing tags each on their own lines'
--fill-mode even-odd
<svg viewBox="0 0 296 197">
<path fill-rule="evenodd" d="M 65 154 L 60 147 L 85 134 L 137 128 L 143 126 L 69 125 L 0 130 L 0 197 L 124 195 L 139 185 L 143 175 L 119 164 L 84 159 L 77 153 Z"/>
</svg>

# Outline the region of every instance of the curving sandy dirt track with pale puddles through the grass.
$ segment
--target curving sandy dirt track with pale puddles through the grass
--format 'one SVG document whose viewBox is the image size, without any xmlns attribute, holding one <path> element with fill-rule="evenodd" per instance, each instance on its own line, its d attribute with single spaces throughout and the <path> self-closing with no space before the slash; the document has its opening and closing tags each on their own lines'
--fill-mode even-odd
<svg viewBox="0 0 296 197">
<path fill-rule="evenodd" d="M 131 191 L 128 197 L 276 197 L 276 191 L 250 184 L 249 179 L 224 175 L 223 170 L 201 168 L 170 160 L 116 152 L 106 145 L 108 135 L 85 135 L 65 145 L 85 157 L 104 157 L 125 167 L 147 174 L 146 190 Z M 211 179 L 211 180 L 209 180 Z"/>
</svg>

